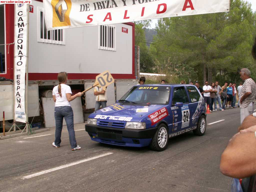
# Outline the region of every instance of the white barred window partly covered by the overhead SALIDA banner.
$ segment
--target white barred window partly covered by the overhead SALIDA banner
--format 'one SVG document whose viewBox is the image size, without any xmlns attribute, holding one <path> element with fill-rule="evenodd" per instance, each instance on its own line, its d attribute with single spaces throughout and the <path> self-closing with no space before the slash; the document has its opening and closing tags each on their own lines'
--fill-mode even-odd
<svg viewBox="0 0 256 192">
<path fill-rule="evenodd" d="M 65 29 L 46 30 L 44 10 L 38 7 L 38 35 L 37 41 L 65 45 Z"/>
</svg>

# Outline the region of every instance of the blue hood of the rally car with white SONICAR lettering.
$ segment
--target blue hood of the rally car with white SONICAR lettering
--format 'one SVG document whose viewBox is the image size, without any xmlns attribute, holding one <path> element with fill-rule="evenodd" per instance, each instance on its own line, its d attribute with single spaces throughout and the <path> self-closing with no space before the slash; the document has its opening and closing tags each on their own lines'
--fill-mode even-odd
<svg viewBox="0 0 256 192">
<path fill-rule="evenodd" d="M 93 112 L 89 115 L 89 118 L 99 117 L 105 118 L 109 120 L 110 118 L 107 116 L 118 116 L 118 117 L 130 117 L 132 119 L 124 120 L 124 121 L 133 121 L 140 122 L 144 118 L 148 118 L 148 115 L 154 113 L 155 111 L 165 107 L 167 105 L 122 105 L 120 103 L 115 103 L 103 109 Z M 99 116 L 100 115 L 100 116 Z M 105 115 L 105 116 L 102 116 Z M 102 119 L 100 118 L 100 119 Z M 120 120 L 120 119 L 119 119 Z"/>
</svg>

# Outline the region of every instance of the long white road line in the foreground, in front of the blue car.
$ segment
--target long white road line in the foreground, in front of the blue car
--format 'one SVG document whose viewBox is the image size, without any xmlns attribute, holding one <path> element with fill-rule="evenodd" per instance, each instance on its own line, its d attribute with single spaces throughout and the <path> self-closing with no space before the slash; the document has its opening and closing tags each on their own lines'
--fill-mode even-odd
<svg viewBox="0 0 256 192">
<path fill-rule="evenodd" d="M 38 172 L 38 173 L 27 175 L 25 177 L 22 177 L 22 179 L 29 179 L 31 177 L 36 177 L 36 176 L 39 176 L 39 175 L 42 175 L 42 174 L 45 174 L 45 173 L 50 173 L 50 172 L 53 172 L 53 171 L 56 171 L 56 170 L 59 170 L 59 169 L 63 169 L 63 168 L 66 168 L 66 167 L 77 165 L 79 163 L 91 161 L 93 159 L 97 159 L 97 158 L 104 157 L 106 155 L 111 155 L 111 154 L 113 154 L 113 153 L 104 153 L 102 155 L 98 155 L 98 156 L 95 156 L 95 157 L 90 157 L 90 158 L 83 159 L 83 160 L 80 160 L 80 161 L 77 161 L 77 162 L 74 162 L 74 163 L 69 163 L 69 164 L 66 164 L 66 165 L 62 165 L 62 166 L 59 166 L 59 167 L 55 167 L 55 168 L 52 168 L 52 169 L 48 169 L 48 170 L 44 170 L 44 171 L 41 171 L 41 172 Z"/>
</svg>

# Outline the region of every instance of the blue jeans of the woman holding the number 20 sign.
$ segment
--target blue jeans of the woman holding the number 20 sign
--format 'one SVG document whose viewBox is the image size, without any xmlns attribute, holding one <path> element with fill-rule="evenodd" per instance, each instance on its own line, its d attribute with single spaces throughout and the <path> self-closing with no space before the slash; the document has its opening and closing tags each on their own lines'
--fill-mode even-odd
<svg viewBox="0 0 256 192">
<path fill-rule="evenodd" d="M 61 131 L 62 131 L 62 123 L 63 118 L 65 118 L 65 121 L 67 123 L 67 129 L 69 134 L 69 142 L 71 145 L 71 148 L 77 147 L 77 141 L 74 131 L 74 115 L 73 110 L 71 106 L 60 106 L 54 108 L 54 117 L 55 117 L 55 145 L 60 146 L 61 142 Z"/>
</svg>

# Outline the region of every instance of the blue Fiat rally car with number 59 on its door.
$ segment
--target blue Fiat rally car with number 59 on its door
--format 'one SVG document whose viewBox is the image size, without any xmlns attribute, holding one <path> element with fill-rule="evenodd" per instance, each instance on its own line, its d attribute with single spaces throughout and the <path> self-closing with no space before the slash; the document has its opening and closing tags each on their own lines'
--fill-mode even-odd
<svg viewBox="0 0 256 192">
<path fill-rule="evenodd" d="M 166 149 L 168 139 L 193 131 L 204 135 L 206 106 L 194 85 L 146 84 L 132 87 L 115 104 L 89 115 L 85 130 L 93 141 Z"/>
</svg>

